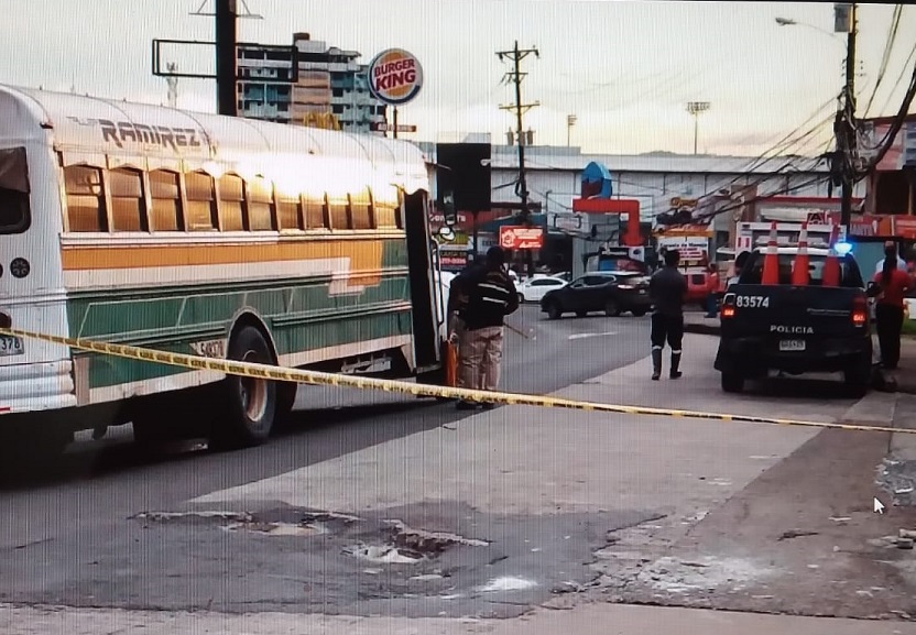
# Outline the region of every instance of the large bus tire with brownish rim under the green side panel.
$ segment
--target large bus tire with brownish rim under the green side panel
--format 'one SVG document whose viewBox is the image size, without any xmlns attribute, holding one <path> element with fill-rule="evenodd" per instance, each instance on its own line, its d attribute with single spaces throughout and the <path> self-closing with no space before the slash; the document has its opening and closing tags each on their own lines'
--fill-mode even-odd
<svg viewBox="0 0 916 635">
<path fill-rule="evenodd" d="M 260 329 L 242 326 L 229 340 L 227 359 L 275 364 L 271 347 Z M 260 446 L 271 435 L 279 409 L 277 385 L 271 380 L 228 375 L 221 382 L 226 399 L 214 421 L 210 446 L 219 450 Z"/>
</svg>

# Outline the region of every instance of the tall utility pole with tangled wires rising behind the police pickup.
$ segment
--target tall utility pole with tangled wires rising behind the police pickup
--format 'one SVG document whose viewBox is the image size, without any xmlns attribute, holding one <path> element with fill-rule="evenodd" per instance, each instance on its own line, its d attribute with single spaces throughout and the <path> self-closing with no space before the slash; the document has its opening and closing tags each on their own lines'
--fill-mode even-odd
<svg viewBox="0 0 916 635">
<path fill-rule="evenodd" d="M 842 158 L 840 223 L 846 228 L 847 236 L 849 236 L 849 226 L 852 222 L 852 187 L 855 184 L 853 157 L 858 154 L 855 147 L 855 36 L 858 35 L 859 25 L 857 24 L 855 2 L 852 4 L 837 3 L 833 6 L 833 10 L 836 18 L 835 31 L 847 32 L 846 87 L 843 88 L 843 101 L 840 111 L 837 113 L 836 133 L 837 151 L 841 153 Z"/>
</svg>

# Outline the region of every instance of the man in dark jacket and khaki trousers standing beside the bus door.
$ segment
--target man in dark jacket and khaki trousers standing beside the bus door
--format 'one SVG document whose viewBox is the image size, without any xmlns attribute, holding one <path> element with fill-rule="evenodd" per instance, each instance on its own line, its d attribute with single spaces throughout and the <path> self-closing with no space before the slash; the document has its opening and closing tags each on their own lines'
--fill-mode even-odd
<svg viewBox="0 0 916 635">
<path fill-rule="evenodd" d="M 505 316 L 519 308 L 519 292 L 505 270 L 505 252 L 491 247 L 481 265 L 461 272 L 455 280 L 466 302 L 459 305 L 461 341 L 459 344 L 460 386 L 495 391 L 500 382 Z M 459 410 L 472 410 L 471 402 L 458 403 Z M 492 409 L 493 404 L 484 404 Z"/>
</svg>

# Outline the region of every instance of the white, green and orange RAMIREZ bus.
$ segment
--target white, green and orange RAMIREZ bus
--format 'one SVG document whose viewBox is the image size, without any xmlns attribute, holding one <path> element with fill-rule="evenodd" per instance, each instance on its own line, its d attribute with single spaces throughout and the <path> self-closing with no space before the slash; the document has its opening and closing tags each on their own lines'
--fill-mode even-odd
<svg viewBox="0 0 916 635">
<path fill-rule="evenodd" d="M 332 372 L 441 370 L 429 166 L 374 135 L 0 86 L 0 324 Z M 295 385 L 0 338 L 0 435 L 257 445 Z"/>
</svg>

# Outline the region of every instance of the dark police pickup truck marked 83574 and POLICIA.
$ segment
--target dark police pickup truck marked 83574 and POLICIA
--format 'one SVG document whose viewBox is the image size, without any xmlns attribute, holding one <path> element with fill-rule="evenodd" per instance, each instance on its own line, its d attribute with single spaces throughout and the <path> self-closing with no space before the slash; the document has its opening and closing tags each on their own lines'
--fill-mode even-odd
<svg viewBox="0 0 916 635">
<path fill-rule="evenodd" d="M 763 285 L 765 254 L 750 253 L 722 299 L 715 368 L 722 390 L 739 393 L 768 371 L 841 372 L 850 390 L 868 391 L 872 369 L 869 300 L 851 254 L 839 258 L 840 285 L 821 286 L 826 249 L 810 249 L 810 282 L 792 284 L 797 248 L 779 248 L 779 284 Z"/>
</svg>

